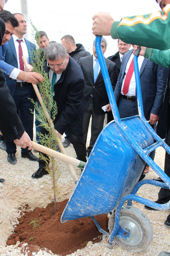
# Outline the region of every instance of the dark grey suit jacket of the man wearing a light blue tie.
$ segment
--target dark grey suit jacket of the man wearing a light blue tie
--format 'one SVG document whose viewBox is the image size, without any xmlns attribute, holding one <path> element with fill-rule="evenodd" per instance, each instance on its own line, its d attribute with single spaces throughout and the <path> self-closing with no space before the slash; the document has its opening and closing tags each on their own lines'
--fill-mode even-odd
<svg viewBox="0 0 170 256">
<path fill-rule="evenodd" d="M 110 76 L 111 83 L 114 79 L 114 66 L 115 64 L 109 59 L 105 58 L 106 66 Z M 85 105 L 84 110 L 88 108 L 91 97 L 93 99 L 93 110 L 96 115 L 105 114 L 102 110 L 102 106 L 108 104 L 109 99 L 106 92 L 105 83 L 103 80 L 102 72 L 100 70 L 98 78 L 94 83 L 93 77 L 93 55 L 80 58 L 80 67 L 83 70 L 83 75 L 85 78 Z M 113 88 L 114 89 L 114 88 Z"/>
</svg>

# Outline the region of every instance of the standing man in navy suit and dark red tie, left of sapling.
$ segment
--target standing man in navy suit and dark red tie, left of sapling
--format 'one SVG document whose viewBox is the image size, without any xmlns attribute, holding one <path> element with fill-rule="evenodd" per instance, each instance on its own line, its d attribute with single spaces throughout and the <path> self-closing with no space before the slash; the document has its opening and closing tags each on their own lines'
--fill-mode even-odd
<svg viewBox="0 0 170 256">
<path fill-rule="evenodd" d="M 19 68 L 24 71 L 24 65 L 22 61 L 22 55 L 26 56 L 28 63 L 31 62 L 31 53 L 35 49 L 30 41 L 23 38 L 23 35 L 27 32 L 26 20 L 22 14 L 14 14 L 15 18 L 18 20 L 19 26 L 16 28 L 15 33 L 12 35 L 11 39 L 8 42 L 8 48 L 5 55 L 5 62 L 12 65 L 16 69 Z M 19 113 L 20 119 L 22 121 L 23 127 L 26 132 L 29 134 L 31 140 L 33 140 L 33 120 L 34 116 L 30 112 L 30 109 L 34 112 L 34 105 L 28 98 L 35 99 L 35 92 L 31 83 L 22 81 L 20 79 L 15 80 L 17 76 L 14 69 L 11 73 L 12 78 L 7 79 L 7 86 L 10 90 L 10 94 L 13 97 L 17 113 Z M 27 69 L 33 71 L 33 67 L 28 65 Z M 7 160 L 8 162 L 15 164 L 16 163 L 16 145 L 13 142 L 6 142 L 7 145 Z M 32 154 L 28 148 L 21 148 L 21 156 L 28 158 L 31 161 L 38 161 L 38 158 Z"/>
</svg>

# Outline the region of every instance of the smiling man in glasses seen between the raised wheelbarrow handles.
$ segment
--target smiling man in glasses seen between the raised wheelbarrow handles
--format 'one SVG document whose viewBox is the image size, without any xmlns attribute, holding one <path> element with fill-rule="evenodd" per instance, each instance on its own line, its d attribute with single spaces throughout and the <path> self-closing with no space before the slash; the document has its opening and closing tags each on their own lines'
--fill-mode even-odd
<svg viewBox="0 0 170 256">
<path fill-rule="evenodd" d="M 118 52 L 116 52 L 114 55 L 108 57 L 108 59 L 110 59 L 111 61 L 113 61 L 115 63 L 114 72 L 116 74 L 116 76 L 115 76 L 116 79 L 113 81 L 114 87 L 116 86 L 116 82 L 117 82 L 117 79 L 118 79 L 118 76 L 120 73 L 120 68 L 121 68 L 124 54 L 129 51 L 129 49 L 131 48 L 131 45 L 126 44 L 122 40 L 118 39 L 117 40 L 117 48 L 118 48 Z M 113 120 L 113 114 L 110 111 L 107 113 L 107 123 L 109 123 L 112 120 Z"/>
</svg>

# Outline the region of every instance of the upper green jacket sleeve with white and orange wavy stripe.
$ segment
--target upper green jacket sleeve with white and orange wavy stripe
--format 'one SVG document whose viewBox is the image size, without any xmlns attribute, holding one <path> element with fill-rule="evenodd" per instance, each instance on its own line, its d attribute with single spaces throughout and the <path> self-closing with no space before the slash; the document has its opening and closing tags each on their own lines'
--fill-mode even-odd
<svg viewBox="0 0 170 256">
<path fill-rule="evenodd" d="M 124 17 L 111 28 L 113 39 L 127 44 L 166 50 L 170 48 L 170 5 L 162 11 L 146 15 Z"/>
</svg>

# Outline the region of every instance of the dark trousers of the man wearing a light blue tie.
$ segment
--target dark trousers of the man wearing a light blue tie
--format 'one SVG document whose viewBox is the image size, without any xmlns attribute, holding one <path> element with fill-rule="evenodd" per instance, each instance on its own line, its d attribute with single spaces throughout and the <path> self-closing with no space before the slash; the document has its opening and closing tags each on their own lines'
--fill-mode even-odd
<svg viewBox="0 0 170 256">
<path fill-rule="evenodd" d="M 93 111 L 93 100 L 91 98 L 90 103 L 88 105 L 87 110 L 84 112 L 84 120 L 83 120 L 83 134 L 84 134 L 84 142 L 86 144 L 87 141 L 87 133 L 88 133 L 88 126 L 91 120 L 91 138 L 90 138 L 90 145 L 87 148 L 87 155 L 90 155 L 90 152 L 94 146 L 96 139 L 98 138 L 99 134 L 103 130 L 103 124 L 105 119 L 105 113 L 103 115 L 96 115 Z"/>
</svg>

